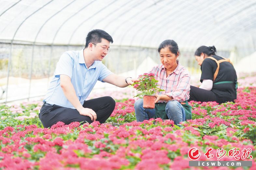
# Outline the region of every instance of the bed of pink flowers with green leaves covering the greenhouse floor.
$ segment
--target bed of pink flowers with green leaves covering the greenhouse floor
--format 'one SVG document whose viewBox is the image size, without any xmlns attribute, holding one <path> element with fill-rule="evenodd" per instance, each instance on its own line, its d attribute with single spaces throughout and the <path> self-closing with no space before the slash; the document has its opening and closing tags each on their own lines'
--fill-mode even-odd
<svg viewBox="0 0 256 170">
<path fill-rule="evenodd" d="M 237 96 L 236 103 L 190 102 L 192 120 L 182 127 L 171 120 L 136 122 L 134 99 L 117 102 L 105 124 L 51 128 L 42 128 L 33 114 L 40 103 L 2 105 L 0 169 L 186 169 L 192 168 L 191 148 L 201 152 L 197 161 L 217 161 L 222 149 L 227 153 L 220 161 L 252 161 L 248 168 L 256 169 L 256 88 L 239 88 Z M 238 159 L 228 156 L 234 148 Z"/>
</svg>

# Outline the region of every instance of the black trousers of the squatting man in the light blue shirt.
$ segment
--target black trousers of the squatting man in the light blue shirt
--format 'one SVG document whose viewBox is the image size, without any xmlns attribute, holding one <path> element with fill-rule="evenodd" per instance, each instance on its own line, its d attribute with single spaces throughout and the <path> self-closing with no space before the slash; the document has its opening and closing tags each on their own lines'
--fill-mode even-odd
<svg viewBox="0 0 256 170">
<path fill-rule="evenodd" d="M 116 102 L 112 97 L 105 96 L 84 101 L 83 107 L 92 109 L 97 115 L 96 121 L 104 123 L 112 114 L 115 105 Z M 38 116 L 45 128 L 49 128 L 59 121 L 66 125 L 72 122 L 82 122 L 81 124 L 86 122 L 92 123 L 89 116 L 80 115 L 76 109 L 66 108 L 55 104 L 52 106 L 42 106 Z"/>
</svg>

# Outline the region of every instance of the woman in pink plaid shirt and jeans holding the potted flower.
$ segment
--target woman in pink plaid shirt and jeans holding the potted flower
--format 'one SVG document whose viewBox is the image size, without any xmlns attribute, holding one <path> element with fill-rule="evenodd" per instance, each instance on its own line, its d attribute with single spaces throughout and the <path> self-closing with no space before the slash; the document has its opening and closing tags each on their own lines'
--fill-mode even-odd
<svg viewBox="0 0 256 170">
<path fill-rule="evenodd" d="M 175 41 L 163 41 L 158 47 L 158 53 L 162 64 L 153 67 L 149 73 L 155 75 L 158 87 L 165 91 L 157 92 L 156 107 L 160 103 L 166 103 L 166 115 L 177 125 L 186 120 L 185 110 L 181 103 L 189 99 L 190 74 L 177 59 L 180 52 Z M 134 107 L 138 122 L 156 117 L 156 109 L 143 108 L 143 99 L 138 99 Z"/>
</svg>

